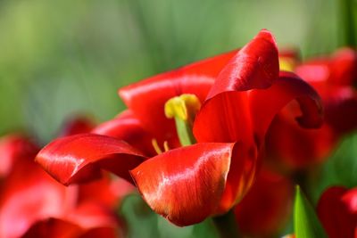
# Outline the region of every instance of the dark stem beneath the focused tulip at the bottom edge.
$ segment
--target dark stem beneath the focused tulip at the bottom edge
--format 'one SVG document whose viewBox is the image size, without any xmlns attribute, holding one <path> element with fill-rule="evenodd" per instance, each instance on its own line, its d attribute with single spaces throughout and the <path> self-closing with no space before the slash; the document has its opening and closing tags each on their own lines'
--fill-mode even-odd
<svg viewBox="0 0 357 238">
<path fill-rule="evenodd" d="M 220 238 L 239 237 L 237 221 L 233 209 L 230 209 L 228 213 L 220 217 L 213 217 L 213 223 L 217 227 Z"/>
</svg>

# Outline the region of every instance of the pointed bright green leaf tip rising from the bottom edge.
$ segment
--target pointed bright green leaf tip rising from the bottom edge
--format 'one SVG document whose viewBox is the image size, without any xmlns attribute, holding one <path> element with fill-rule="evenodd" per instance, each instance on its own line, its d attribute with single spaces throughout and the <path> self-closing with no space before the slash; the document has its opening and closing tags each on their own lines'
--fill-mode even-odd
<svg viewBox="0 0 357 238">
<path fill-rule="evenodd" d="M 323 238 L 327 237 L 319 218 L 305 195 L 296 185 L 294 205 L 294 228 L 296 238 Z"/>
</svg>

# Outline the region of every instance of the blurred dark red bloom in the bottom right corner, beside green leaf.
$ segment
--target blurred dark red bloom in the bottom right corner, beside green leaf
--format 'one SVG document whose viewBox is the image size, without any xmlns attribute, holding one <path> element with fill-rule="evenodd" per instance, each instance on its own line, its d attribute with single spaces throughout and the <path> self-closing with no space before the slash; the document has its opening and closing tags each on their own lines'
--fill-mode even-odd
<svg viewBox="0 0 357 238">
<path fill-rule="evenodd" d="M 328 188 L 322 193 L 317 210 L 328 237 L 357 237 L 357 187 Z"/>
</svg>

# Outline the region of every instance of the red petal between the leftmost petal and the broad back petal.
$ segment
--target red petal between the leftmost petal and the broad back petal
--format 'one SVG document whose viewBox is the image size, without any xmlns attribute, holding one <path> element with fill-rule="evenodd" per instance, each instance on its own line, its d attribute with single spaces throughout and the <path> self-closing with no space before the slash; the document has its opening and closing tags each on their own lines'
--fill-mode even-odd
<svg viewBox="0 0 357 238">
<path fill-rule="evenodd" d="M 152 144 L 153 135 L 145 131 L 141 122 L 129 110 L 120 113 L 116 119 L 106 121 L 95 127 L 92 133 L 123 140 L 147 156 L 156 154 Z"/>
</svg>

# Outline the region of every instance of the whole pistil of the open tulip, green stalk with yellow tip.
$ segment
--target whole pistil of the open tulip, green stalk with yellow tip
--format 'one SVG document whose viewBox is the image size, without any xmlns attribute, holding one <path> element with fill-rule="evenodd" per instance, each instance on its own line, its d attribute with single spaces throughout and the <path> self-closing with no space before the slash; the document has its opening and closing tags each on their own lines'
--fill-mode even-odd
<svg viewBox="0 0 357 238">
<path fill-rule="evenodd" d="M 195 115 L 200 108 L 200 100 L 195 94 L 181 94 L 165 103 L 165 116 L 168 119 L 175 119 L 179 142 L 182 146 L 195 144 L 192 127 Z"/>
</svg>

